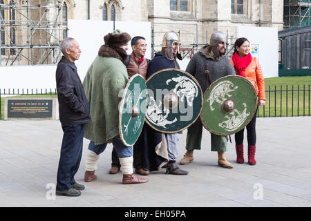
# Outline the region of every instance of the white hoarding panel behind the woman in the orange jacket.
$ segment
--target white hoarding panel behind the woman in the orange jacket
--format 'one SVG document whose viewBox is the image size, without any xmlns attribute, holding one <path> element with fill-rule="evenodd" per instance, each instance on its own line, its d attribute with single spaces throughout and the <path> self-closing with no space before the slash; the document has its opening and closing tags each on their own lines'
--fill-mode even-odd
<svg viewBox="0 0 311 221">
<path fill-rule="evenodd" d="M 238 27 L 238 37 L 247 38 L 254 49 L 257 46 L 258 52 L 254 57 L 258 57 L 263 77 L 279 77 L 277 28 L 241 26 Z"/>
</svg>

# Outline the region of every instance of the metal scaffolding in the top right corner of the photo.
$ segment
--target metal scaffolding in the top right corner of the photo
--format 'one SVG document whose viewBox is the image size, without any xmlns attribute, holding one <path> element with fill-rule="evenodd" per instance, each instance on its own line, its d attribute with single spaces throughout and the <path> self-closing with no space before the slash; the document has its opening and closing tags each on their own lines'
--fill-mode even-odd
<svg viewBox="0 0 311 221">
<path fill-rule="evenodd" d="M 311 0 L 284 1 L 284 28 L 311 25 Z"/>
</svg>

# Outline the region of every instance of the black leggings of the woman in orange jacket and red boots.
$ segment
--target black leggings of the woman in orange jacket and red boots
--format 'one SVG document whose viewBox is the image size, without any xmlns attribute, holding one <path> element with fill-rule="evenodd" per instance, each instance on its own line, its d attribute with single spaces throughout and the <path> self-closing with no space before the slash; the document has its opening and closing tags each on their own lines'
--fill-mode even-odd
<svg viewBox="0 0 311 221">
<path fill-rule="evenodd" d="M 247 143 L 249 146 L 256 146 L 256 115 L 258 111 L 258 106 L 255 111 L 254 117 L 252 120 L 247 124 L 246 131 L 247 131 Z M 244 128 L 241 131 L 238 131 L 234 135 L 234 140 L 236 140 L 236 145 L 243 144 L 244 140 Z"/>
</svg>

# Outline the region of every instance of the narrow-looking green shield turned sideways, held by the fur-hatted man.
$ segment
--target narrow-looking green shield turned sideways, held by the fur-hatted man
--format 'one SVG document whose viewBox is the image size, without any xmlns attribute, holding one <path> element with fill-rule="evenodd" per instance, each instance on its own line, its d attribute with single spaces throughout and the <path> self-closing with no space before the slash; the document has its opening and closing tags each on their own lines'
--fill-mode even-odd
<svg viewBox="0 0 311 221">
<path fill-rule="evenodd" d="M 142 132 L 146 102 L 146 82 L 141 75 L 133 75 L 126 84 L 119 106 L 120 138 L 126 146 L 135 144 Z"/>
</svg>

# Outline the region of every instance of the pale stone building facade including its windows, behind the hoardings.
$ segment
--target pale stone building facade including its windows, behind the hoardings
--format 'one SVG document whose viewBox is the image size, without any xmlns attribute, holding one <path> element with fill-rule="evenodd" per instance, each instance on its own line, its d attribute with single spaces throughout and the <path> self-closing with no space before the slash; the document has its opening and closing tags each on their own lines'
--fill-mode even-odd
<svg viewBox="0 0 311 221">
<path fill-rule="evenodd" d="M 154 51 L 160 50 L 162 36 L 169 30 L 179 33 L 182 48 L 186 52 L 195 44 L 209 43 L 211 33 L 216 30 L 227 33 L 229 44 L 232 44 L 236 39 L 237 26 L 283 29 L 283 0 L 0 0 L 0 3 L 14 4 L 20 11 L 16 10 L 15 19 L 25 20 L 24 26 L 16 26 L 15 41 L 12 42 L 9 34 L 10 26 L 14 26 L 12 21 L 6 22 L 6 30 L 3 30 L 3 19 L 10 20 L 10 7 L 1 4 L 1 14 L 5 15 L 1 21 L 1 45 L 32 46 L 31 50 L 33 46 L 39 46 L 31 56 L 28 55 L 29 48 L 17 48 L 15 57 L 17 54 L 20 56 L 12 62 L 15 65 L 18 65 L 17 60 L 19 64 L 30 64 L 30 60 L 32 64 L 55 64 L 59 58 L 45 59 L 48 51 L 42 57 L 42 46 L 50 47 L 46 50 L 53 54 L 53 47 L 57 47 L 59 40 L 66 37 L 68 19 L 149 21 Z M 30 5 L 38 9 L 31 9 Z M 28 19 L 23 15 L 28 15 Z M 40 26 L 35 26 L 31 20 L 41 21 Z M 25 29 L 34 26 L 37 29 Z M 13 61 L 14 56 L 10 56 L 10 48 L 5 50 L 1 63 L 10 65 L 8 60 Z"/>
</svg>

